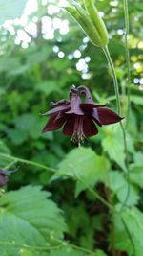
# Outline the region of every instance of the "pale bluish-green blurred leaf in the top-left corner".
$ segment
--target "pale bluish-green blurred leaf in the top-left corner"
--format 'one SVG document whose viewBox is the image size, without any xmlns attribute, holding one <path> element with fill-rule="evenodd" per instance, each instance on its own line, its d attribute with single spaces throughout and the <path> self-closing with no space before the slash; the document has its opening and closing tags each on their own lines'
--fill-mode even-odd
<svg viewBox="0 0 143 256">
<path fill-rule="evenodd" d="M 27 0 L 1 0 L 0 1 L 0 24 L 7 19 L 17 18 L 22 15 Z"/>
</svg>

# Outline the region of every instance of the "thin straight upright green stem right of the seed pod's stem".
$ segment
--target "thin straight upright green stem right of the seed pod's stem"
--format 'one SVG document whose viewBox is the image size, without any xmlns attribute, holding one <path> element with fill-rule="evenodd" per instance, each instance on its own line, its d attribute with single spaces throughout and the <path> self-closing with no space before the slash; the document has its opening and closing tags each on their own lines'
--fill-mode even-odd
<svg viewBox="0 0 143 256">
<path fill-rule="evenodd" d="M 123 0 L 124 5 L 124 16 L 125 16 L 125 56 L 127 64 L 127 124 L 130 114 L 130 84 L 131 84 L 131 73 L 130 73 L 130 52 L 128 47 L 128 35 L 129 35 L 129 12 L 128 12 L 128 0 Z"/>
</svg>

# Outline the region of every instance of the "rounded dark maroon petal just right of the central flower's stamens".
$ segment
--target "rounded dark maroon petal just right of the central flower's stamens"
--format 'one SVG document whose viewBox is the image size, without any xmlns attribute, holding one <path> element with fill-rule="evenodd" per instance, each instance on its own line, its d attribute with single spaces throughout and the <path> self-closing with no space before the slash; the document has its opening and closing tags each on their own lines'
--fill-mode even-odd
<svg viewBox="0 0 143 256">
<path fill-rule="evenodd" d="M 98 133 L 98 129 L 92 121 L 92 118 L 87 117 L 83 121 L 83 132 L 86 137 L 92 137 Z"/>
</svg>

